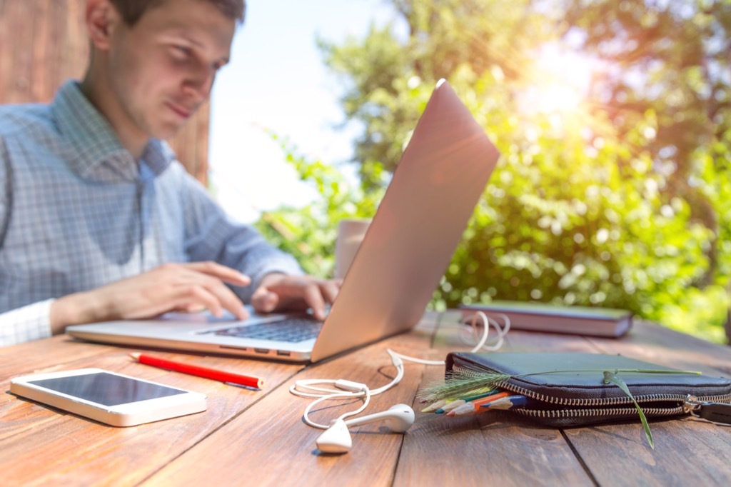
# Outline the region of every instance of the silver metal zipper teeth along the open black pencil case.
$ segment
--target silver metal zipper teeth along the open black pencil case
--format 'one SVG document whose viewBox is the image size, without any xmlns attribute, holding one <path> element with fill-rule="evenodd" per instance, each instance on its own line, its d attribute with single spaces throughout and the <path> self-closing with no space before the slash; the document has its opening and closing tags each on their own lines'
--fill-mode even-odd
<svg viewBox="0 0 731 487">
<path fill-rule="evenodd" d="M 458 371 L 462 374 L 474 374 L 474 370 L 466 369 L 461 366 L 453 367 L 453 370 Z M 626 408 L 602 408 L 602 406 L 621 406 L 624 404 L 632 404 L 632 399 L 629 396 L 622 397 L 611 397 L 611 398 L 594 398 L 594 399 L 577 399 L 577 398 L 562 398 L 556 396 L 548 396 L 546 394 L 536 393 L 532 390 L 520 387 L 520 385 L 514 385 L 504 380 L 496 382 L 495 388 L 508 390 L 512 393 L 520 394 L 521 396 L 529 397 L 530 399 L 536 399 L 537 401 L 545 402 L 548 404 L 555 404 L 558 406 L 572 406 L 572 407 L 599 407 L 599 409 L 513 409 L 521 415 L 537 417 L 537 418 L 587 418 L 600 415 L 632 415 L 637 414 L 637 409 L 634 405 Z M 700 411 L 704 404 L 718 404 L 718 403 L 731 403 L 731 394 L 723 394 L 719 396 L 689 396 L 688 394 L 670 394 L 670 393 L 656 393 L 656 394 L 643 394 L 635 396 L 635 401 L 640 404 L 645 415 L 680 415 L 683 413 L 691 412 L 693 410 Z M 692 399 L 689 399 L 692 398 Z M 694 402 L 691 402 L 694 401 Z M 677 407 L 643 407 L 643 403 L 648 402 L 677 402 Z M 728 406 L 728 404 L 723 404 Z M 731 406 L 730 406 L 731 407 Z M 698 415 L 702 417 L 701 415 Z M 731 419 L 730 419 L 731 422 Z"/>
</svg>

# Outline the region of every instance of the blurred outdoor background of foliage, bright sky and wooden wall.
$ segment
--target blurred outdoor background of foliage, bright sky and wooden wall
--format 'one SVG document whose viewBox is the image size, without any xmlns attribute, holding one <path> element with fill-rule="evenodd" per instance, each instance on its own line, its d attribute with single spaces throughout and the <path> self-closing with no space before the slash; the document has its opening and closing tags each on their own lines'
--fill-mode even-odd
<svg viewBox="0 0 731 487">
<path fill-rule="evenodd" d="M 0 0 L 0 102 L 80 78 L 86 0 Z M 236 219 L 330 276 L 440 78 L 501 151 L 431 307 L 629 309 L 726 343 L 730 0 L 248 0 L 171 140 Z"/>
</svg>

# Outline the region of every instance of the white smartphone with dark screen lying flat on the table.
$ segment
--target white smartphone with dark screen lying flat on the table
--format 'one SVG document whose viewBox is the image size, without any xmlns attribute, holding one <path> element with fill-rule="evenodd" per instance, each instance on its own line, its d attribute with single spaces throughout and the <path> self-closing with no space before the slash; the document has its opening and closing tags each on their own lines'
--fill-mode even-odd
<svg viewBox="0 0 731 487">
<path fill-rule="evenodd" d="M 205 411 L 206 397 L 102 369 L 26 375 L 10 392 L 111 426 L 135 426 Z"/>
</svg>

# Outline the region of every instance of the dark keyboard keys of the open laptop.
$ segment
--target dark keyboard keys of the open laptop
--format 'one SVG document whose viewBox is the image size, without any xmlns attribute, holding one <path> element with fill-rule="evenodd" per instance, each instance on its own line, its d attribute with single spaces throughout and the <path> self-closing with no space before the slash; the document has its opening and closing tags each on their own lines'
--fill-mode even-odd
<svg viewBox="0 0 731 487">
<path fill-rule="evenodd" d="M 202 334 L 297 343 L 298 341 L 316 338 L 320 328 L 322 328 L 321 321 L 307 317 L 294 317 L 259 325 L 220 328 L 219 330 L 204 331 Z"/>
</svg>

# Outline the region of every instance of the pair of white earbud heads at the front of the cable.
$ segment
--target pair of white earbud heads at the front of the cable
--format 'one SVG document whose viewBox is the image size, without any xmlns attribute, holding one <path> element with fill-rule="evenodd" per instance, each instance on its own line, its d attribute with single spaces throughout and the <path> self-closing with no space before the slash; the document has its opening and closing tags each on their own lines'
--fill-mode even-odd
<svg viewBox="0 0 731 487">
<path fill-rule="evenodd" d="M 348 426 L 360 426 L 385 420 L 391 431 L 403 433 L 414 424 L 414 409 L 407 404 L 395 404 L 384 412 L 344 421 L 338 419 L 317 438 L 317 449 L 322 453 L 346 453 L 353 445 Z"/>
</svg>

